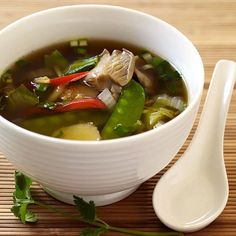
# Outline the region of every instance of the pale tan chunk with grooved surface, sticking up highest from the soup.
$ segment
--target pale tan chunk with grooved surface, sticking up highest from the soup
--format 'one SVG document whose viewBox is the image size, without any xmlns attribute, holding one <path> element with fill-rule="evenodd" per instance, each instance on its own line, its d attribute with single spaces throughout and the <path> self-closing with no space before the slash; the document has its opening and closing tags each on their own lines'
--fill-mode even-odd
<svg viewBox="0 0 236 236">
<path fill-rule="evenodd" d="M 132 52 L 123 49 L 123 51 L 114 50 L 111 54 L 109 63 L 106 66 L 105 73 L 111 79 L 124 86 L 129 83 L 134 73 L 135 58 Z"/>
</svg>

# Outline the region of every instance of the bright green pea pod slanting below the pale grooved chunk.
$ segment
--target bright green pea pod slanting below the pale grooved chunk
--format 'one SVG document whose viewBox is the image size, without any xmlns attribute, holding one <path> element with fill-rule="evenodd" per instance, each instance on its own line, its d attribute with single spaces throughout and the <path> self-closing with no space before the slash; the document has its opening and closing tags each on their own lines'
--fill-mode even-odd
<svg viewBox="0 0 236 236">
<path fill-rule="evenodd" d="M 102 138 L 120 138 L 132 134 L 141 117 L 144 100 L 143 87 L 131 80 L 122 90 L 114 111 L 101 132 Z M 121 128 L 122 132 L 120 132 Z"/>
</svg>

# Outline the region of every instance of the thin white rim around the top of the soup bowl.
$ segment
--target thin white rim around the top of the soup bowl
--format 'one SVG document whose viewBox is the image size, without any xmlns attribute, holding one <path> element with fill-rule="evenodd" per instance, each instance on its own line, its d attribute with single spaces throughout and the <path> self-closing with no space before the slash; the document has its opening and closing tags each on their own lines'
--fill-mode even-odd
<svg viewBox="0 0 236 236">
<path fill-rule="evenodd" d="M 145 139 L 149 136 L 152 136 L 152 134 L 155 134 L 156 132 L 161 132 L 164 129 L 168 129 L 168 127 L 173 127 L 175 126 L 179 120 L 181 120 L 183 117 L 186 116 L 187 113 L 191 112 L 193 107 L 195 107 L 195 105 L 197 105 L 198 102 L 200 102 L 201 99 L 201 95 L 202 95 L 202 91 L 203 91 L 203 86 L 204 86 L 204 78 L 205 78 L 205 72 L 204 72 L 204 66 L 203 66 L 203 61 L 202 58 L 198 52 L 198 50 L 196 49 L 196 47 L 193 45 L 193 43 L 181 32 L 179 31 L 177 28 L 175 28 L 173 25 L 167 23 L 166 21 L 160 19 L 159 17 L 156 16 L 152 16 L 150 14 L 138 11 L 138 10 L 134 10 L 131 8 L 126 8 L 126 7 L 121 7 L 121 6 L 116 6 L 116 5 L 109 5 L 109 4 L 75 4 L 75 5 L 65 5 L 65 6 L 59 6 L 59 7 L 53 7 L 53 8 L 49 8 L 49 9 L 45 9 L 45 10 L 41 10 L 35 13 L 32 13 L 30 15 L 24 16 L 14 22 L 12 22 L 11 24 L 5 26 L 3 29 L 0 30 L 0 36 L 2 33 L 4 33 L 5 31 L 11 30 L 11 28 L 16 27 L 18 24 L 23 23 L 24 21 L 27 21 L 28 19 L 32 18 L 32 17 L 38 17 L 44 14 L 50 14 L 56 11 L 64 11 L 64 10 L 70 10 L 70 9 L 82 9 L 82 8 L 97 8 L 97 9 L 109 9 L 112 11 L 121 11 L 121 12 L 126 12 L 128 14 L 135 14 L 135 15 L 139 15 L 141 17 L 145 17 L 145 18 L 149 18 L 152 21 L 156 21 L 161 25 L 164 25 L 165 27 L 170 28 L 172 31 L 175 32 L 175 34 L 177 34 L 179 37 L 181 37 L 181 40 L 183 40 L 186 44 L 188 44 L 193 51 L 195 51 L 195 55 L 196 57 L 198 57 L 198 61 L 200 63 L 200 67 L 201 67 L 201 76 L 200 76 L 200 80 L 201 84 L 200 84 L 200 89 L 199 91 L 195 94 L 193 100 L 188 104 L 188 106 L 186 107 L 186 109 L 181 112 L 177 117 L 175 117 L 174 119 L 170 120 L 169 122 L 167 122 L 166 124 L 164 124 L 163 126 L 158 127 L 158 129 L 152 129 L 149 131 L 145 131 L 143 133 L 140 134 L 135 134 L 135 135 L 131 135 L 131 136 L 127 136 L 127 137 L 121 137 L 121 138 L 116 138 L 116 139 L 109 139 L 109 140 L 99 140 L 99 141 L 93 141 L 93 140 L 69 140 L 69 139 L 59 139 L 59 138 L 54 138 L 51 136 L 47 136 L 47 135 L 43 135 L 43 134 L 39 134 L 33 131 L 29 131 L 25 128 L 22 128 L 14 123 L 12 123 L 11 121 L 7 120 L 6 118 L 4 118 L 3 116 L 0 115 L 0 123 L 3 123 L 5 126 L 7 126 L 8 128 L 10 128 L 11 130 L 14 130 L 16 132 L 18 132 L 19 134 L 28 136 L 30 138 L 34 138 L 34 139 L 38 139 L 40 141 L 46 141 L 46 142 L 50 142 L 50 143 L 54 143 L 54 144 L 64 144 L 64 145 L 83 145 L 83 146 L 94 146 L 94 145 L 107 145 L 107 144 L 117 144 L 117 143 L 127 143 L 127 142 L 132 142 L 132 141 L 138 141 L 140 139 Z"/>
</svg>

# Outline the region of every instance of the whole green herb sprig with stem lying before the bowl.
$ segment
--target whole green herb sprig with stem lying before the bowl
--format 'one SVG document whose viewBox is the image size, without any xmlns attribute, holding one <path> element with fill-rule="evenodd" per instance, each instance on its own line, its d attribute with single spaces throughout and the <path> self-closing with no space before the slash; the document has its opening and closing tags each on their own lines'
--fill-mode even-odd
<svg viewBox="0 0 236 236">
<path fill-rule="evenodd" d="M 37 221 L 36 215 L 29 209 L 32 205 L 48 209 L 54 213 L 59 213 L 66 218 L 77 220 L 88 224 L 88 228 L 82 229 L 80 236 L 100 236 L 109 231 L 120 232 L 137 236 L 183 236 L 179 232 L 143 232 L 127 228 L 114 227 L 99 219 L 96 213 L 96 206 L 93 201 L 86 202 L 80 197 L 74 196 L 74 203 L 79 215 L 64 212 L 51 205 L 39 202 L 31 196 L 32 180 L 19 171 L 15 172 L 15 191 L 13 193 L 14 205 L 11 212 L 18 217 L 22 223 L 34 223 Z"/>
</svg>

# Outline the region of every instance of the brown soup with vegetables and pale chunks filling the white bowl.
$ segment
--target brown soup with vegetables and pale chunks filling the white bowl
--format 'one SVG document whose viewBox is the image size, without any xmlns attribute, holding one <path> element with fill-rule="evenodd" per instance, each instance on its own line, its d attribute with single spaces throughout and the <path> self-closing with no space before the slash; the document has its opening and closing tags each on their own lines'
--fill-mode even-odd
<svg viewBox="0 0 236 236">
<path fill-rule="evenodd" d="M 33 132 L 104 140 L 155 129 L 187 105 L 180 73 L 127 43 L 78 39 L 18 60 L 0 77 L 0 114 Z"/>
</svg>

